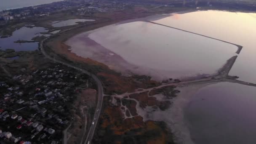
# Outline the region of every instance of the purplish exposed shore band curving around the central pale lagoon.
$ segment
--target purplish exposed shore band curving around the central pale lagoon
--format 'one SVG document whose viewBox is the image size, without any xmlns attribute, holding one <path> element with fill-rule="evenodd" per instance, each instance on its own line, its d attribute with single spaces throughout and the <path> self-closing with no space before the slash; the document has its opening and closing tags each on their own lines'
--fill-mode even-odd
<svg viewBox="0 0 256 144">
<path fill-rule="evenodd" d="M 146 19 L 152 19 L 152 18 L 153 19 L 154 18 L 155 19 L 163 19 L 164 17 L 170 16 L 171 14 L 172 13 L 151 15 L 151 16 L 146 16 L 146 17 L 137 18 L 137 19 L 128 19 L 128 20 L 120 21 L 115 24 L 110 24 L 110 25 L 107 25 L 104 27 L 111 27 L 111 26 L 115 26 L 115 25 L 119 25 L 119 24 L 130 23 L 133 21 L 145 21 Z M 97 43 L 96 41 L 94 41 L 90 37 L 88 37 L 91 33 L 95 32 L 101 28 L 102 27 L 99 27 L 97 29 L 92 29 L 92 30 L 85 31 L 85 32 L 79 33 L 77 35 L 74 35 L 74 36 L 70 37 L 67 41 L 65 41 L 64 43 L 69 46 L 70 53 L 73 53 L 79 57 L 83 57 L 84 59 L 89 58 L 89 59 L 93 59 L 95 61 L 99 61 L 99 62 L 107 65 L 110 69 L 115 70 L 117 72 L 121 72 L 122 75 L 126 75 L 126 76 L 127 75 L 131 76 L 134 74 L 149 75 L 152 77 L 153 80 L 157 80 L 157 81 L 162 81 L 162 80 L 166 80 L 169 78 L 174 78 L 174 79 L 178 78 L 181 80 L 194 80 L 194 79 L 200 79 L 203 77 L 214 77 L 214 76 L 218 75 L 219 72 L 222 71 L 223 67 L 225 67 L 225 65 L 227 64 L 227 61 L 229 61 L 229 59 L 230 59 L 230 58 L 228 58 L 226 61 L 223 61 L 223 64 L 221 64 L 221 67 L 216 68 L 213 73 L 209 73 L 209 74 L 208 73 L 207 74 L 204 74 L 204 73 L 196 74 L 196 72 L 195 72 L 195 74 L 193 74 L 193 75 L 177 76 L 175 74 L 175 71 L 161 70 L 161 72 L 159 72 L 159 70 L 157 70 L 157 69 L 142 67 L 142 66 L 139 66 L 136 64 L 129 63 L 128 61 L 123 59 L 117 53 L 109 50 L 108 48 L 105 48 L 101 44 Z M 82 40 L 82 37 L 83 37 L 83 40 Z M 207 37 L 207 36 L 205 36 L 205 37 Z M 86 47 L 79 48 L 77 46 L 77 45 L 79 45 L 79 43 L 81 43 L 80 40 L 83 41 L 83 45 L 86 45 Z M 220 40 L 220 41 L 222 41 L 222 40 Z M 229 43 L 229 42 L 227 42 L 227 43 Z M 75 49 L 72 48 L 72 47 L 74 47 L 74 45 L 76 47 Z M 233 45 L 235 45 L 235 44 L 233 44 Z M 237 46 L 237 45 L 235 45 L 235 46 Z M 242 48 L 240 48 L 239 50 L 241 51 Z M 83 53 L 83 51 L 86 51 L 86 53 Z M 111 53 L 111 55 L 110 55 L 110 53 Z M 235 53 L 235 51 L 234 51 L 234 53 Z M 116 62 L 114 62 L 114 61 L 116 61 Z M 167 73 L 169 73 L 169 74 L 172 73 L 172 74 L 171 74 L 171 76 L 170 75 L 167 76 L 167 75 L 165 75 Z"/>
</svg>

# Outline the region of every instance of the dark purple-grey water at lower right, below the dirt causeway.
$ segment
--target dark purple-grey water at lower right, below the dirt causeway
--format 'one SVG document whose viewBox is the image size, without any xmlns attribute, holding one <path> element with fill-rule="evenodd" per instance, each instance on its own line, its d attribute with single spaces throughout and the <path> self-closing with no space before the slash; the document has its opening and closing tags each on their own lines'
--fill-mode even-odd
<svg viewBox="0 0 256 144">
<path fill-rule="evenodd" d="M 199 90 L 185 108 L 195 144 L 256 144 L 256 87 L 217 83 Z"/>
</svg>

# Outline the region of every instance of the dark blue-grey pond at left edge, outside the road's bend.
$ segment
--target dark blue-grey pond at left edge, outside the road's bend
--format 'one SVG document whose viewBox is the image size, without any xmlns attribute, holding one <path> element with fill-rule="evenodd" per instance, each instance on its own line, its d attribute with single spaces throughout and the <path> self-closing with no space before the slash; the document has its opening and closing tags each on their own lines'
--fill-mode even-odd
<svg viewBox="0 0 256 144">
<path fill-rule="evenodd" d="M 22 27 L 13 32 L 11 37 L 0 38 L 0 49 L 14 49 L 15 51 L 34 51 L 38 47 L 38 43 L 13 43 L 17 40 L 31 40 L 33 37 L 41 36 L 40 32 L 47 32 L 43 27 Z M 45 35 L 48 36 L 48 35 Z"/>
</svg>

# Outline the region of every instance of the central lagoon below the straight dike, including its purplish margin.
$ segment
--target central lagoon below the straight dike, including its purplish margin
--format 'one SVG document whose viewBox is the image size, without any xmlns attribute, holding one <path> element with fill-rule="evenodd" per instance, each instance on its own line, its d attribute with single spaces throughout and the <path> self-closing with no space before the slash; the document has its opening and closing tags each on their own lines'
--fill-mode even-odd
<svg viewBox="0 0 256 144">
<path fill-rule="evenodd" d="M 215 75 L 237 51 L 229 43 L 141 20 L 76 35 L 67 45 L 73 53 L 123 74 L 150 75 L 155 80 Z"/>
</svg>

